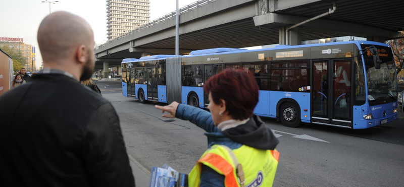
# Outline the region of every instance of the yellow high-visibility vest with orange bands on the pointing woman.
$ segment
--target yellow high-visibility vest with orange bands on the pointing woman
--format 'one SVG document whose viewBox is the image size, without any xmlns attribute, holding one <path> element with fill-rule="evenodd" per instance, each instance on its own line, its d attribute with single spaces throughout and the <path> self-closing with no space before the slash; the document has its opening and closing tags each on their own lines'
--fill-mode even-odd
<svg viewBox="0 0 404 187">
<path fill-rule="evenodd" d="M 236 161 L 232 158 L 233 151 Z M 237 165 L 241 164 L 245 181 L 237 177 Z M 229 150 L 225 146 L 214 145 L 199 158 L 188 175 L 188 186 L 199 187 L 202 165 L 206 165 L 225 176 L 226 187 L 272 186 L 279 162 L 276 150 L 259 150 L 248 146 Z"/>
</svg>

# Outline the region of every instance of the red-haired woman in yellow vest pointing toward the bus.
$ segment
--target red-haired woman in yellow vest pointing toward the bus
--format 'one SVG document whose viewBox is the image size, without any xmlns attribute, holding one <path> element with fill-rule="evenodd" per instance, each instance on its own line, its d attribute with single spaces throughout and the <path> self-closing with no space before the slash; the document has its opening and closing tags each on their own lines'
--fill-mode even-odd
<svg viewBox="0 0 404 187">
<path fill-rule="evenodd" d="M 156 106 L 163 117 L 189 120 L 208 133 L 209 149 L 189 173 L 191 186 L 272 186 L 279 153 L 278 139 L 253 114 L 258 103 L 258 85 L 242 69 L 225 71 L 204 85 L 209 94 L 206 110 L 173 102 Z"/>
</svg>

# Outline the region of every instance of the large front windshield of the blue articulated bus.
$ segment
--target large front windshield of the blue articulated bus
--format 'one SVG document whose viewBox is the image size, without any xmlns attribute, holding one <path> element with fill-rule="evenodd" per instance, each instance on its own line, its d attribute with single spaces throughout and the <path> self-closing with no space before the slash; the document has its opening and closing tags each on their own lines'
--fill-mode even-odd
<svg viewBox="0 0 404 187">
<path fill-rule="evenodd" d="M 370 106 L 397 101 L 397 78 L 394 60 L 383 62 L 375 69 L 373 59 L 365 59 Z"/>
</svg>

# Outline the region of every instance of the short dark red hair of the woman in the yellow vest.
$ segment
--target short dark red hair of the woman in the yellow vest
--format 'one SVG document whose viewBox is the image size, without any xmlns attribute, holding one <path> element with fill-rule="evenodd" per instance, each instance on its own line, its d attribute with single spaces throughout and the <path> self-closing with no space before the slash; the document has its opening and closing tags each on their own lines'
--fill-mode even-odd
<svg viewBox="0 0 404 187">
<path fill-rule="evenodd" d="M 206 81 L 204 90 L 211 93 L 215 104 L 226 102 L 226 111 L 233 119 L 244 120 L 252 116 L 258 103 L 258 84 L 252 74 L 242 69 L 226 69 Z"/>
</svg>

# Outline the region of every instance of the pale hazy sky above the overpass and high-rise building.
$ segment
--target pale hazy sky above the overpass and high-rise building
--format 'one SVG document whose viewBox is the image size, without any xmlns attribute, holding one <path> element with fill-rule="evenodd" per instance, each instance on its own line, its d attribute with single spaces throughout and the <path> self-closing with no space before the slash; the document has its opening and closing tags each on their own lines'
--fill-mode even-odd
<svg viewBox="0 0 404 187">
<path fill-rule="evenodd" d="M 45 0 L 43 0 L 45 1 Z M 51 0 L 53 2 L 55 0 Z M 85 19 L 94 31 L 97 44 L 107 41 L 107 1 L 105 0 L 58 0 L 51 4 L 51 12 L 67 11 Z M 176 0 L 149 0 L 150 21 L 174 12 Z M 178 0 L 181 9 L 197 0 Z M 0 4 L 0 37 L 24 38 L 25 44 L 35 46 L 36 68 L 42 57 L 36 40 L 36 32 L 42 19 L 49 14 L 49 3 L 42 0 L 2 0 Z"/>
</svg>

